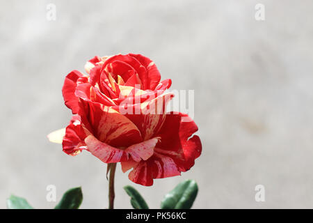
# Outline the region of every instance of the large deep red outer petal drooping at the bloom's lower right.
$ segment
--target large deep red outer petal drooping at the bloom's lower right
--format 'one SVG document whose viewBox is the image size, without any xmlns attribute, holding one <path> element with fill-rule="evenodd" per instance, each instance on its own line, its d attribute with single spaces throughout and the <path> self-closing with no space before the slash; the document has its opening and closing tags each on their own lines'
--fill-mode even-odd
<svg viewBox="0 0 313 223">
<path fill-rule="evenodd" d="M 180 175 L 181 171 L 187 171 L 193 166 L 201 153 L 199 137 L 192 137 L 197 130 L 197 125 L 186 114 L 167 114 L 166 121 L 157 134 L 161 140 L 154 148 L 154 155 L 137 164 L 122 162 L 123 171 L 134 167 L 129 173 L 129 179 L 145 186 L 152 185 L 155 178 Z"/>
</svg>

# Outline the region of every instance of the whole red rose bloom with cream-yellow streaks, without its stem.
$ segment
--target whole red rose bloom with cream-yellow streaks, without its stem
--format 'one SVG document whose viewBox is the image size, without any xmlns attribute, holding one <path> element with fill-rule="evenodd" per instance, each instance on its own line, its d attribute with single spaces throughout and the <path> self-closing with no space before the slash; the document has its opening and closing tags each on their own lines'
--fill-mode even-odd
<svg viewBox="0 0 313 223">
<path fill-rule="evenodd" d="M 62 89 L 72 120 L 63 137 L 63 151 L 89 151 L 105 163 L 120 162 L 129 179 L 145 186 L 155 178 L 188 171 L 200 156 L 197 125 L 186 114 L 166 113 L 173 97 L 164 93 L 157 66 L 140 54 L 95 56 L 73 70 Z"/>
</svg>

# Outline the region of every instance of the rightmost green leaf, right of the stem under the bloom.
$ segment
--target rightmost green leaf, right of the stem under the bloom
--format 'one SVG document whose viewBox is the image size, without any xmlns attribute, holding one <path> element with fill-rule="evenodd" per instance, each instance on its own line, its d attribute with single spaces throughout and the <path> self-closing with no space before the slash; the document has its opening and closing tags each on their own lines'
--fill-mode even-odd
<svg viewBox="0 0 313 223">
<path fill-rule="evenodd" d="M 190 209 L 198 194 L 195 180 L 185 180 L 179 183 L 163 198 L 162 209 Z"/>
</svg>

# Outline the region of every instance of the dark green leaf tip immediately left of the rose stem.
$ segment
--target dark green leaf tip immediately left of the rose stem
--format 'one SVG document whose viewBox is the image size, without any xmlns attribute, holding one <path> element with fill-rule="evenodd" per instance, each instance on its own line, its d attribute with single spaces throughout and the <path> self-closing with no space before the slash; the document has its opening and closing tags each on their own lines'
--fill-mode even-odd
<svg viewBox="0 0 313 223">
<path fill-rule="evenodd" d="M 61 201 L 54 209 L 78 209 L 82 201 L 81 187 L 74 187 L 63 194 Z"/>
</svg>

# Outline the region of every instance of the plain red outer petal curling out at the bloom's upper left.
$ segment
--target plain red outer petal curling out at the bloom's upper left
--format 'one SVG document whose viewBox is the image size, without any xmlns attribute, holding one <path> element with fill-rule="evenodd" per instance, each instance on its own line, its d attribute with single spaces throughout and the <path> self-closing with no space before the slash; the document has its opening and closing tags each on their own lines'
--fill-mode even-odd
<svg viewBox="0 0 313 223">
<path fill-rule="evenodd" d="M 62 88 L 62 94 L 65 101 L 65 105 L 72 109 L 73 114 L 77 114 L 79 111 L 78 99 L 75 95 L 77 80 L 79 77 L 83 77 L 83 74 L 78 70 L 73 70 L 66 77 Z"/>
</svg>

